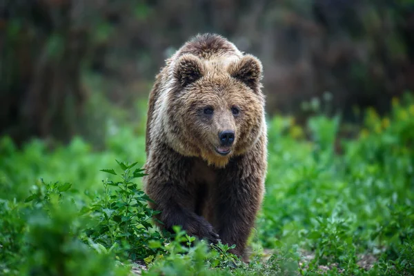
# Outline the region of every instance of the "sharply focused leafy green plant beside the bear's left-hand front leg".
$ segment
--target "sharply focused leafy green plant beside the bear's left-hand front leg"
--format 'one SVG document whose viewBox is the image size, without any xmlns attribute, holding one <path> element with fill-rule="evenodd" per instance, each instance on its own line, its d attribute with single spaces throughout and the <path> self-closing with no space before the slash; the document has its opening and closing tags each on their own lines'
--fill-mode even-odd
<svg viewBox="0 0 414 276">
<path fill-rule="evenodd" d="M 150 233 L 150 218 L 158 211 L 148 208 L 146 202 L 150 201 L 150 198 L 132 182 L 133 179 L 143 177 L 144 170 L 133 170 L 137 162 L 117 163 L 122 170 L 121 175 L 113 169 L 102 170 L 117 176 L 121 181 L 103 181 L 105 193 L 96 198 L 91 208 L 93 215 L 99 217 L 99 222 L 87 231 L 87 235 L 95 245 L 106 249 L 127 249 L 128 258 L 144 259 L 155 253 L 148 242 L 152 239 L 163 240 L 158 232 Z M 111 186 L 115 187 L 115 190 L 110 190 Z"/>
</svg>

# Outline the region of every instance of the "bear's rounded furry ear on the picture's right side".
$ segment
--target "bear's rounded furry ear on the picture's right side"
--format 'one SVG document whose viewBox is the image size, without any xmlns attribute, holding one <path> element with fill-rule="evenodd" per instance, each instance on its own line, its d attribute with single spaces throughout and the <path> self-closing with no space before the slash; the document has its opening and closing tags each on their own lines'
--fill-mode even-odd
<svg viewBox="0 0 414 276">
<path fill-rule="evenodd" d="M 261 87 L 262 70 L 262 63 L 253 55 L 245 55 L 228 68 L 231 77 L 242 81 L 255 92 Z"/>
</svg>

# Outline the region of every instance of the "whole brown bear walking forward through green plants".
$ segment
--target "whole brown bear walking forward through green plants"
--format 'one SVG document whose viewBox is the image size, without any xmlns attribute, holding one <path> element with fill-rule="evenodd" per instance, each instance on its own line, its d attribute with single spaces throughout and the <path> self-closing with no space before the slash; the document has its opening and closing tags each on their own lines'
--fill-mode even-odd
<svg viewBox="0 0 414 276">
<path fill-rule="evenodd" d="M 145 190 L 161 229 L 221 239 L 244 256 L 264 195 L 262 63 L 217 34 L 166 60 L 150 92 Z"/>
</svg>

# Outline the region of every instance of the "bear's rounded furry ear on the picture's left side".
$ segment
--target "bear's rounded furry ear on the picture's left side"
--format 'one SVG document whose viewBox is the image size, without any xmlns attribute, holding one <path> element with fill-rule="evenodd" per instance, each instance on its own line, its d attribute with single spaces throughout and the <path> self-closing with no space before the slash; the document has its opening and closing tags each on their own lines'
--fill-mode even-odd
<svg viewBox="0 0 414 276">
<path fill-rule="evenodd" d="M 175 65 L 174 77 L 181 87 L 197 81 L 203 77 L 204 66 L 195 55 L 182 55 Z"/>
</svg>

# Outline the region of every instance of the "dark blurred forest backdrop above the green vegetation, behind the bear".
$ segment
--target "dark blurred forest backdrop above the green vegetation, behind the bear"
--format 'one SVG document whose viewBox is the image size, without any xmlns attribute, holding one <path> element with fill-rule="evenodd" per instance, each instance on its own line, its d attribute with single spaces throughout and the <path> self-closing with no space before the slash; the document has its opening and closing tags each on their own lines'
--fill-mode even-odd
<svg viewBox="0 0 414 276">
<path fill-rule="evenodd" d="M 0 0 L 0 135 L 99 139 L 199 32 L 262 60 L 269 115 L 323 99 L 355 121 L 414 90 L 413 0 Z"/>
</svg>

